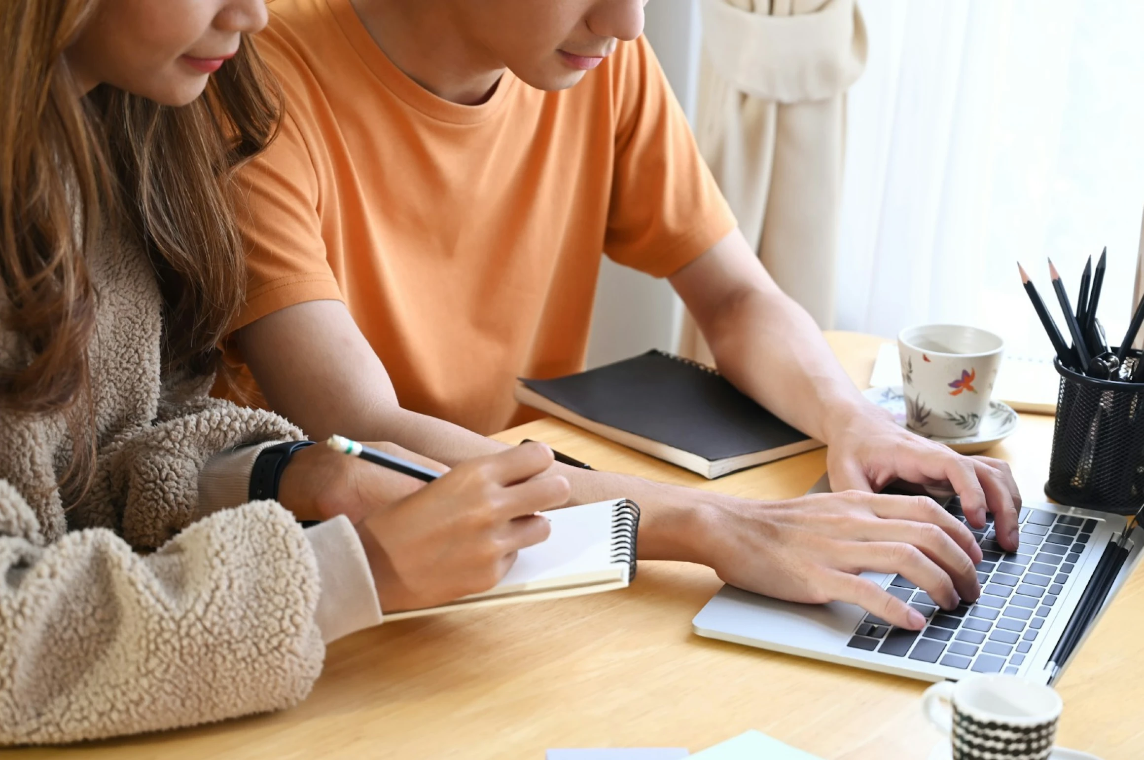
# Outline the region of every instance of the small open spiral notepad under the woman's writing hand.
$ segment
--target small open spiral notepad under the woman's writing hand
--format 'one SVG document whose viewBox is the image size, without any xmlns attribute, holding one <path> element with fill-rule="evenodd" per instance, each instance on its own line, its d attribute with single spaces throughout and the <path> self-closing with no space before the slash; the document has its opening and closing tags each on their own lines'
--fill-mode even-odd
<svg viewBox="0 0 1144 760">
<path fill-rule="evenodd" d="M 501 581 L 447 604 L 387 613 L 386 620 L 451 610 L 596 594 L 625 588 L 636 576 L 639 507 L 628 499 L 546 512 L 553 531 L 542 544 L 517 553 Z"/>
</svg>

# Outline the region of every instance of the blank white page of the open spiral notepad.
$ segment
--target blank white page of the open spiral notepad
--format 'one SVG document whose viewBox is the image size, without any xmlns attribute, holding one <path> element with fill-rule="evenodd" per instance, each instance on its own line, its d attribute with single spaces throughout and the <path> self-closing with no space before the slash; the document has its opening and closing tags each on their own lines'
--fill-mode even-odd
<svg viewBox="0 0 1144 760">
<path fill-rule="evenodd" d="M 628 564 L 612 559 L 615 500 L 543 513 L 553 523 L 548 540 L 517 553 L 516 562 L 492 589 L 466 599 L 522 591 L 628 580 Z"/>
</svg>

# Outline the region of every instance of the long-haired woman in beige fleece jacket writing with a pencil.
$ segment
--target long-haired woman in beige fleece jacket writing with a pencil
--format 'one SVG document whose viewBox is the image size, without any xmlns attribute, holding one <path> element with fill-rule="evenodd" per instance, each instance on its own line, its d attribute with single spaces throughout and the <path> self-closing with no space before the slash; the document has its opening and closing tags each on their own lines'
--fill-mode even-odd
<svg viewBox="0 0 1144 760">
<path fill-rule="evenodd" d="M 245 504 L 262 449 L 302 437 L 207 397 L 244 286 L 228 183 L 277 118 L 246 38 L 265 14 L 0 3 L 5 744 L 295 704 L 324 642 L 491 587 L 567 498 L 530 480 L 539 445 L 421 490 L 310 446 L 280 504 Z"/>
</svg>

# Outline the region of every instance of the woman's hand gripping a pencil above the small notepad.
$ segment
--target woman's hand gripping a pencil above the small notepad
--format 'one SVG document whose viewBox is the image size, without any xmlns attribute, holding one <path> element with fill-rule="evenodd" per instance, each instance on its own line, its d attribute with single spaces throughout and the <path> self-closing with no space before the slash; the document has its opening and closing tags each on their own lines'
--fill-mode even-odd
<svg viewBox="0 0 1144 760">
<path fill-rule="evenodd" d="M 551 449 L 529 443 L 461 462 L 357 525 L 387 612 L 443 604 L 487 591 L 517 551 L 548 538 L 535 514 L 563 506 L 569 483 L 543 475 Z"/>
</svg>

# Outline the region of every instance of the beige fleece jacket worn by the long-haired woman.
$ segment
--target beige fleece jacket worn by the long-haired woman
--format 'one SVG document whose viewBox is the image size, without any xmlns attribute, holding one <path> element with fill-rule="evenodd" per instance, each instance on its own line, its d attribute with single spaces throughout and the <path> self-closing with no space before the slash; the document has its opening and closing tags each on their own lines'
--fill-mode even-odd
<svg viewBox="0 0 1144 760">
<path fill-rule="evenodd" d="M 233 450 L 300 432 L 209 398 L 209 379 L 160 377 L 160 295 L 136 245 L 109 239 L 90 269 L 97 458 L 81 504 L 64 512 L 56 486 L 71 457 L 63 419 L 0 411 L 2 744 L 286 707 L 309 692 L 324 638 L 381 619 L 348 520 L 303 531 L 275 502 L 238 506 L 253 458 Z M 0 327 L 0 361 L 24 350 Z M 204 492 L 223 501 L 200 502 L 204 468 Z M 327 585 L 365 601 L 324 632 Z"/>
</svg>

